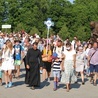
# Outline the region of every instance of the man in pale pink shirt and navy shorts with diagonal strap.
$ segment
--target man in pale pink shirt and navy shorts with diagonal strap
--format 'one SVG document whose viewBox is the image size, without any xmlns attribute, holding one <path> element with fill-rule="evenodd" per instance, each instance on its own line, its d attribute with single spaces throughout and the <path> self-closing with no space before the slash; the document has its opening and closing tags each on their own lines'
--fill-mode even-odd
<svg viewBox="0 0 98 98">
<path fill-rule="evenodd" d="M 93 47 L 88 53 L 88 66 L 90 66 L 90 82 L 96 86 L 96 80 L 98 76 L 98 43 L 94 42 Z"/>
</svg>

